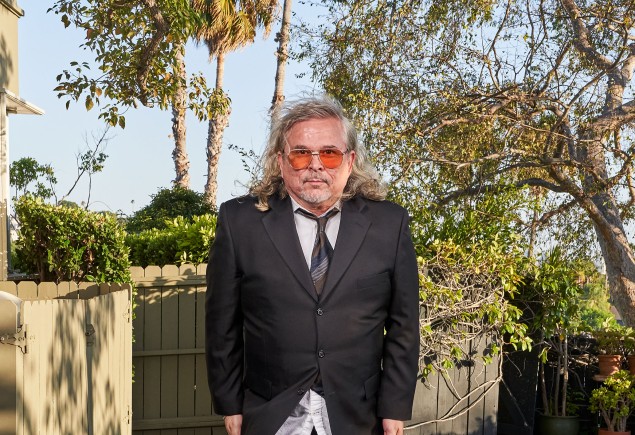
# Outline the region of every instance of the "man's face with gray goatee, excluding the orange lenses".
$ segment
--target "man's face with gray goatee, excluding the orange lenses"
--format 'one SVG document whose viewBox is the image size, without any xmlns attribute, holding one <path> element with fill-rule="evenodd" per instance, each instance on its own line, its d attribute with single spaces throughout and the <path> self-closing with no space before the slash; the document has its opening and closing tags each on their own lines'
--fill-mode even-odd
<svg viewBox="0 0 635 435">
<path fill-rule="evenodd" d="M 289 163 L 292 150 L 317 152 L 334 149 L 346 152 L 346 138 L 342 123 L 336 118 L 309 119 L 295 124 L 287 132 L 284 151 L 278 154 L 278 165 L 289 195 L 308 211 L 320 215 L 335 204 L 346 186 L 355 152 L 344 154 L 339 167 L 329 169 L 317 155 L 312 156 L 305 169 L 294 169 Z"/>
</svg>

